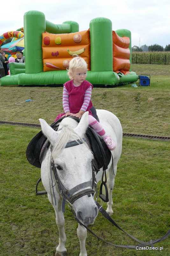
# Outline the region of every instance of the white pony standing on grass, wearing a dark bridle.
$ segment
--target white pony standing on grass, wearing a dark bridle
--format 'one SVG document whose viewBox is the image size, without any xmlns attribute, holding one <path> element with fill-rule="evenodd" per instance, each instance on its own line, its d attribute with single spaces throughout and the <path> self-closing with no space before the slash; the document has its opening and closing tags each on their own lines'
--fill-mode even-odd
<svg viewBox="0 0 170 256">
<path fill-rule="evenodd" d="M 56 248 L 55 256 L 62 256 L 67 254 L 65 247 L 66 234 L 64 230 L 64 214 L 62 212 L 63 198 L 59 192 L 58 186 L 54 177 L 54 173 L 50 172 L 51 159 L 56 167 L 57 175 L 62 181 L 64 187 L 68 190 L 74 188 L 78 184 L 90 181 L 92 179 L 92 166 L 93 153 L 91 152 L 86 142 L 65 148 L 68 141 L 82 140 L 86 138 L 85 132 L 89 125 L 88 123 L 89 112 L 85 112 L 81 117 L 78 124 L 74 119 L 66 117 L 60 125 L 59 131 L 54 131 L 43 119 L 39 119 L 43 133 L 53 146 L 46 151 L 41 164 L 41 179 L 44 188 L 47 191 L 48 199 L 53 205 L 56 224 L 59 230 L 59 245 Z M 112 161 L 108 166 L 109 172 L 108 190 L 109 202 L 107 203 L 107 212 L 111 215 L 112 211 L 112 190 L 114 187 L 115 175 L 117 172 L 117 163 L 122 151 L 122 126 L 118 118 L 109 111 L 97 110 L 97 115 L 104 130 L 110 137 L 117 143 L 117 148 L 111 151 L 113 156 L 113 170 Z M 102 178 L 102 171 L 96 175 L 96 181 Z M 52 177 L 51 177 L 52 176 Z M 55 186 L 53 186 L 55 184 Z M 90 188 L 90 187 L 87 187 Z M 80 189 L 81 190 L 81 189 Z M 76 213 L 76 217 L 85 225 L 93 224 L 98 214 L 98 208 L 95 204 L 93 196 L 85 195 L 74 201 L 72 207 Z M 87 229 L 78 224 L 77 236 L 80 241 L 80 254 L 79 256 L 87 256 L 85 241 L 87 237 Z"/>
</svg>

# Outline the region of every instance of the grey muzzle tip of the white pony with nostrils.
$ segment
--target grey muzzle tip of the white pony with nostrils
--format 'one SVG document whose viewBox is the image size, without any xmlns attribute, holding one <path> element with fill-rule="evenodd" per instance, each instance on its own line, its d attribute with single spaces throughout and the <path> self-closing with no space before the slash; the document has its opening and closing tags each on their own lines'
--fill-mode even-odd
<svg viewBox="0 0 170 256">
<path fill-rule="evenodd" d="M 77 212 L 77 218 L 86 226 L 93 224 L 98 214 L 98 208 L 95 206 L 93 209 L 85 212 L 83 210 Z"/>
</svg>

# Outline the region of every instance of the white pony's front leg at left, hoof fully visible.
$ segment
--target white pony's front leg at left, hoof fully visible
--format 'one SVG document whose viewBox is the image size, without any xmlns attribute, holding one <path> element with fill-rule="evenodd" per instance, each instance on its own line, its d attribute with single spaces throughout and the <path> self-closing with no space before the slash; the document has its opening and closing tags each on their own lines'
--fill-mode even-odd
<svg viewBox="0 0 170 256">
<path fill-rule="evenodd" d="M 62 199 L 57 202 L 55 205 L 54 202 L 52 202 L 51 195 L 48 194 L 48 199 L 50 203 L 53 205 L 55 216 L 56 216 L 56 224 L 59 230 L 59 245 L 56 248 L 55 256 L 65 256 L 67 255 L 67 249 L 65 247 L 66 243 L 66 234 L 64 229 L 64 214 L 61 209 Z"/>
</svg>

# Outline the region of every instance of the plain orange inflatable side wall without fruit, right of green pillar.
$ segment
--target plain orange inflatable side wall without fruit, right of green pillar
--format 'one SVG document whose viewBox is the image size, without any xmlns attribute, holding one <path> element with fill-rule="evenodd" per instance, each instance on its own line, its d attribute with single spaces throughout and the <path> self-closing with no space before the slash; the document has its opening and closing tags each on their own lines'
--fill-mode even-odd
<svg viewBox="0 0 170 256">
<path fill-rule="evenodd" d="M 113 71 L 121 71 L 123 74 L 130 70 L 130 39 L 129 37 L 120 37 L 115 31 L 112 31 L 113 37 Z"/>
</svg>

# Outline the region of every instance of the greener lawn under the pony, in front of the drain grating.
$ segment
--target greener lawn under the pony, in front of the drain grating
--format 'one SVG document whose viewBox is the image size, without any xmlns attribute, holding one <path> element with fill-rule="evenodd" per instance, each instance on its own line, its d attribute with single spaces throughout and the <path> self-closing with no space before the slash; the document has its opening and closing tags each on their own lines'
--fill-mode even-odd
<svg viewBox="0 0 170 256">
<path fill-rule="evenodd" d="M 35 196 L 40 169 L 25 157 L 26 147 L 37 132 L 39 129 L 0 125 L 1 256 L 53 256 L 58 243 L 53 208 L 47 196 Z M 113 218 L 138 239 L 157 239 L 169 229 L 169 151 L 168 142 L 123 139 L 113 193 Z M 78 256 L 77 223 L 68 208 L 65 218 L 68 255 Z M 91 228 L 112 243 L 135 244 L 101 214 Z M 164 247 L 162 252 L 137 252 L 111 247 L 88 234 L 86 248 L 90 256 L 169 256 L 169 242 L 167 239 L 158 244 Z"/>
</svg>

